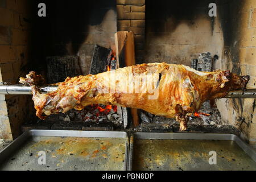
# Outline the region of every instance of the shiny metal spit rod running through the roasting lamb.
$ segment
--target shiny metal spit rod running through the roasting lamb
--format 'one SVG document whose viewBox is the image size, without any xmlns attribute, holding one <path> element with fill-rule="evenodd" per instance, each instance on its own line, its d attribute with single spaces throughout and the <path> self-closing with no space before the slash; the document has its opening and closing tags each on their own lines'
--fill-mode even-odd
<svg viewBox="0 0 256 182">
<path fill-rule="evenodd" d="M 42 93 L 53 92 L 57 86 L 43 86 L 40 88 Z M 0 94 L 4 95 L 30 95 L 32 94 L 30 86 L 24 85 L 0 85 Z M 228 93 L 225 98 L 256 98 L 256 89 L 234 90 Z"/>
</svg>

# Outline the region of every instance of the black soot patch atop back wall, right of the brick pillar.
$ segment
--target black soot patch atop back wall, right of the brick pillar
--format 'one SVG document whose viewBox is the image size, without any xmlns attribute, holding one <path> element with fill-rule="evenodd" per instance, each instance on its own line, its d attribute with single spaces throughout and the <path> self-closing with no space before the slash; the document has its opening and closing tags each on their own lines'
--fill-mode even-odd
<svg viewBox="0 0 256 182">
<path fill-rule="evenodd" d="M 148 0 L 146 6 L 147 32 L 174 32 L 181 21 L 193 26 L 196 19 L 208 15 L 208 5 L 212 1 L 155 1 Z M 170 21 L 171 18 L 171 22 Z M 208 16 L 209 19 L 211 19 Z"/>
</svg>

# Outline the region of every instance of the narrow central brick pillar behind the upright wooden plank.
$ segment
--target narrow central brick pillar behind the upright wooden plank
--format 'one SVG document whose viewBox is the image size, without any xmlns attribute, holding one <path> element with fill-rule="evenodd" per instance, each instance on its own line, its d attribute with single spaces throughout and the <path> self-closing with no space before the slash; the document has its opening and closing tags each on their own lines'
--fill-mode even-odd
<svg viewBox="0 0 256 182">
<path fill-rule="evenodd" d="M 117 31 L 133 31 L 136 62 L 144 60 L 145 0 L 117 0 Z"/>
</svg>

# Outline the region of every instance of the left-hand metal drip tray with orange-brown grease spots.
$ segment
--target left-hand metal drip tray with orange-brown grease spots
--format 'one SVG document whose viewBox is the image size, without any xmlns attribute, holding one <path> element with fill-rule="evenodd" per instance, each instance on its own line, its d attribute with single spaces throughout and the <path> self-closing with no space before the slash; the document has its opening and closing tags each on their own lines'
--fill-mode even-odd
<svg viewBox="0 0 256 182">
<path fill-rule="evenodd" d="M 126 170 L 128 149 L 125 132 L 31 130 L 0 152 L 0 170 Z"/>
</svg>

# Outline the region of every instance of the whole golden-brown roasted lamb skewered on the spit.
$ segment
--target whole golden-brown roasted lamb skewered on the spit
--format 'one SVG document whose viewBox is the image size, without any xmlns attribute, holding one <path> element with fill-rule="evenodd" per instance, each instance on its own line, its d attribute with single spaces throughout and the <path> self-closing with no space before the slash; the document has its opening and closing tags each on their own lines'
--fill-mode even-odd
<svg viewBox="0 0 256 182">
<path fill-rule="evenodd" d="M 152 90 L 149 92 L 146 82 L 138 81 L 138 75 L 142 79 L 152 75 L 147 83 L 153 85 L 159 81 L 152 86 L 154 93 Z M 203 102 L 224 97 L 230 90 L 244 90 L 249 81 L 249 76 L 237 76 L 229 71 L 199 72 L 185 65 L 166 63 L 141 64 L 98 75 L 68 77 L 58 84 L 55 92 L 47 94 L 40 93 L 36 87 L 35 80 L 42 82 L 39 78 L 35 72 L 30 72 L 27 78 L 20 78 L 20 82 L 32 86 L 36 115 L 41 119 L 73 108 L 82 110 L 91 104 L 112 104 L 176 118 L 180 122 L 180 131 L 187 129 L 188 116 L 199 110 Z M 131 85 L 135 90 L 146 88 L 147 92 L 127 93 Z M 156 98 L 153 97 L 155 93 L 158 93 Z"/>
</svg>

